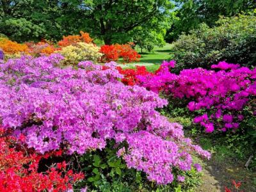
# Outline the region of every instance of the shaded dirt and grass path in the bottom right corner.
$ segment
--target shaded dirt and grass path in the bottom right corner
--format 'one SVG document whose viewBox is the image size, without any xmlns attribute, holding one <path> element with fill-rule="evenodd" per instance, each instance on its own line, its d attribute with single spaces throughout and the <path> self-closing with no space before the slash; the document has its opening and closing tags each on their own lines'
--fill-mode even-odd
<svg viewBox="0 0 256 192">
<path fill-rule="evenodd" d="M 225 186 L 234 189 L 232 180 L 241 182 L 240 189 L 243 191 L 256 191 L 256 173 L 244 168 L 246 159 L 239 158 L 227 145 L 214 138 L 196 140 L 196 143 L 212 153 L 211 159 L 204 161 L 204 184 L 196 191 L 225 191 Z"/>
</svg>

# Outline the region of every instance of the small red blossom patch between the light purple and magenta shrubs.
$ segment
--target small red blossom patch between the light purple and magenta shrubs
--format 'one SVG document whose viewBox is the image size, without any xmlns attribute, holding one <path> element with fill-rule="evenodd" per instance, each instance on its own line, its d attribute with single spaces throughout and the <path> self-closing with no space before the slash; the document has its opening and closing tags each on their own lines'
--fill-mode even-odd
<svg viewBox="0 0 256 192">
<path fill-rule="evenodd" d="M 134 85 L 138 84 L 139 80 L 136 76 L 146 76 L 146 75 L 153 75 L 152 73 L 147 71 L 147 68 L 145 66 L 136 66 L 136 69 L 127 68 L 123 69 L 121 67 L 116 67 L 116 69 L 120 72 L 120 74 L 124 75 L 124 78 L 122 79 L 122 83 L 126 85 Z"/>
</svg>

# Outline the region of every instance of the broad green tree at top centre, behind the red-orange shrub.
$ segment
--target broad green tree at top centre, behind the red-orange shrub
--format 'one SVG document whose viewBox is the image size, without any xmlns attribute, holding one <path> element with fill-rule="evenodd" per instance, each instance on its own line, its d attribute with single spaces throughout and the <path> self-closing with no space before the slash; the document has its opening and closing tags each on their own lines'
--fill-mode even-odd
<svg viewBox="0 0 256 192">
<path fill-rule="evenodd" d="M 133 29 L 148 27 L 152 20 L 165 20 L 172 8 L 168 0 L 86 0 L 81 4 L 86 14 L 84 28 L 105 44 L 112 44 L 116 38 L 129 41 Z"/>
</svg>

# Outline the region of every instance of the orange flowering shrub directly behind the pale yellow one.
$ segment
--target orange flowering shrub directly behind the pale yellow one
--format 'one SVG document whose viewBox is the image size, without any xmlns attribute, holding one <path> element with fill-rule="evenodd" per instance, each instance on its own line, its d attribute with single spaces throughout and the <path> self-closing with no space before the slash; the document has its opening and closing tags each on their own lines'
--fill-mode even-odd
<svg viewBox="0 0 256 192">
<path fill-rule="evenodd" d="M 89 33 L 84 33 L 83 31 L 80 31 L 80 35 L 63 36 L 63 40 L 59 41 L 58 45 L 60 45 L 60 47 L 67 47 L 68 45 L 76 45 L 78 42 L 91 44 L 92 41 L 93 39 L 90 38 Z"/>
</svg>

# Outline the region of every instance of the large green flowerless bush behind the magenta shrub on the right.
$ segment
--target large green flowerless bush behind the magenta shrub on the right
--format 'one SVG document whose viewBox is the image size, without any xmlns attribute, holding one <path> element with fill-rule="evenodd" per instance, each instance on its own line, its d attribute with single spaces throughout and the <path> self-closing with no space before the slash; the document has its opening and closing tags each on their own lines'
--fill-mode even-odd
<svg viewBox="0 0 256 192">
<path fill-rule="evenodd" d="M 256 16 L 239 15 L 221 17 L 218 26 L 200 29 L 189 35 L 180 35 L 174 43 L 175 70 L 202 67 L 209 69 L 212 63 L 226 60 L 229 63 L 255 65 L 256 63 Z"/>
</svg>

